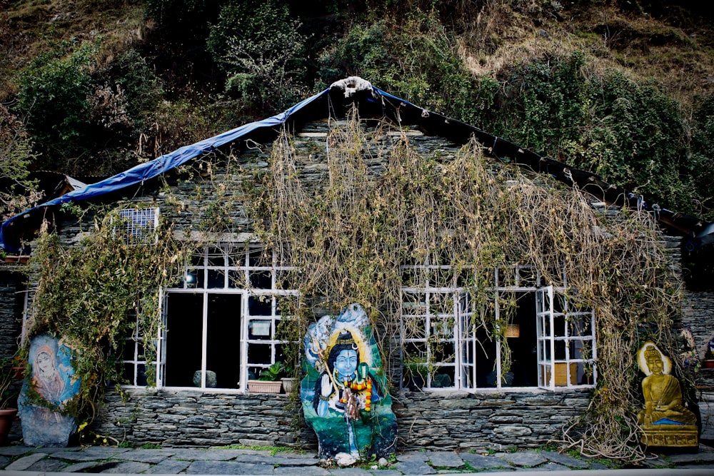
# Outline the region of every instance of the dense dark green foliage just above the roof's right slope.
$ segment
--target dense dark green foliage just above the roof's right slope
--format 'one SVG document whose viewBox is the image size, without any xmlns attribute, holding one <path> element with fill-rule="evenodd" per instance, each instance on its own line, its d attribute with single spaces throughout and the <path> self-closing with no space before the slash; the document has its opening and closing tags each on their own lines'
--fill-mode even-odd
<svg viewBox="0 0 714 476">
<path fill-rule="evenodd" d="M 677 101 L 652 83 L 620 71 L 586 74 L 586 66 L 580 52 L 514 66 L 502 79 L 493 131 L 662 206 L 695 212 L 701 198 Z"/>
</svg>

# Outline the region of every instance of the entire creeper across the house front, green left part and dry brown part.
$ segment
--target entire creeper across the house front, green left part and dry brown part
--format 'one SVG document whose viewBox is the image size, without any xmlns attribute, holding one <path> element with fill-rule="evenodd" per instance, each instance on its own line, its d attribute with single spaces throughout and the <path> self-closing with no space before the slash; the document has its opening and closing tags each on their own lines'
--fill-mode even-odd
<svg viewBox="0 0 714 476">
<path fill-rule="evenodd" d="M 563 444 L 587 455 L 642 457 L 635 350 L 652 339 L 675 356 L 670 332 L 680 293 L 652 218 L 636 211 L 598 212 L 576 188 L 494 163 L 476 141 L 456 152 L 446 147 L 425 155 L 407 134 L 389 136 L 386 124 L 367 124 L 354 111 L 348 121 L 329 126 L 323 150 L 311 151 L 325 156 L 322 181 L 306 173 L 288 133 L 273 143 L 269 170 L 262 173 L 250 163 L 236 169 L 229 156 L 222 165 L 231 180 L 214 180 L 218 163 L 206 158 L 193 176 L 203 180 L 193 203 L 164 188 L 164 207 L 173 211 L 162 211 L 170 218 L 157 231 L 157 245 L 124 243 L 114 233 L 116 213 L 95 213 L 96 223 L 79 247 L 41 236 L 30 334 L 61 334 L 79 349 L 77 371 L 84 383 L 71 410 L 91 416 L 106 380 L 120 381 L 111 356 L 136 313 L 143 334 L 157 334 L 158 290 L 180 279 L 196 245 L 176 240 L 173 221 L 188 214 L 196 223 L 183 231 L 245 231 L 227 217 L 248 206 L 266 249 L 277 250 L 279 265 L 297 269 L 286 279 L 301 291 L 288 312 L 298 318 L 283 320 L 278 338 L 300 342 L 316 315 L 358 302 L 372 320 L 388 372 L 398 368 L 401 287 L 410 279 L 401 265 L 448 265 L 438 273 L 415 273 L 463 283 L 474 324 L 506 349 L 506 370 L 511 363 L 500 329 L 515 300 L 506 296 L 497 320 L 493 271 L 513 273 L 514 264 L 528 264 L 546 281 L 567 287 L 573 305 L 595 312 L 598 388 L 588 413 L 565 431 Z M 226 188 L 236 179 L 243 180 L 244 197 Z M 425 275 L 411 278 L 423 281 Z M 288 354 L 296 360 L 299 349 Z"/>
</svg>

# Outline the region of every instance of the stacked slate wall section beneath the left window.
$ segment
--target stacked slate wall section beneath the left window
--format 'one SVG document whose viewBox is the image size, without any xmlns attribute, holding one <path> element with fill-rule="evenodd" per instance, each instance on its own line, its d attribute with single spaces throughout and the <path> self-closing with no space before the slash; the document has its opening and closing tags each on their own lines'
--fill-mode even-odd
<svg viewBox="0 0 714 476">
<path fill-rule="evenodd" d="M 293 430 L 291 405 L 288 395 L 130 389 L 106 395 L 96 432 L 134 445 L 296 446 L 297 435 L 316 446 L 310 432 Z"/>
</svg>

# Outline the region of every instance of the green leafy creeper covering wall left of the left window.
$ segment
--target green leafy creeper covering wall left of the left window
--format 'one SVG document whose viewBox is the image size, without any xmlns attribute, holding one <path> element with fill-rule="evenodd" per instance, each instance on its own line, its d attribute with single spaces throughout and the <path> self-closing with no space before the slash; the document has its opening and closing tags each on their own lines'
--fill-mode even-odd
<svg viewBox="0 0 714 476">
<path fill-rule="evenodd" d="M 107 382 L 121 391 L 121 366 L 116 360 L 122 358 L 124 339 L 135 335 L 137 326 L 139 335 L 158 335 L 159 289 L 180 279 L 188 250 L 186 243 L 174 239 L 166 223 L 154 232 L 156 244 L 127 240 L 126 233 L 122 233 L 124 219 L 118 210 L 136 205 L 124 205 L 119 203 L 113 210 L 95 209 L 94 224 L 83 234 L 79 245 L 61 243 L 59 236 L 48 233 L 45 227 L 29 265 L 29 278 L 37 288 L 27 335 L 61 336 L 74 348 L 74 367 L 81 378 L 81 388 L 61 411 L 81 421 L 94 418 Z M 70 208 L 87 213 L 79 207 Z M 154 233 L 149 233 L 149 243 L 154 241 Z M 154 345 L 152 339 L 146 339 L 149 362 L 156 355 Z M 27 350 L 25 345 L 24 352 Z M 147 368 L 150 373 L 153 370 Z M 34 400 L 43 403 L 39 395 L 34 396 Z"/>
</svg>

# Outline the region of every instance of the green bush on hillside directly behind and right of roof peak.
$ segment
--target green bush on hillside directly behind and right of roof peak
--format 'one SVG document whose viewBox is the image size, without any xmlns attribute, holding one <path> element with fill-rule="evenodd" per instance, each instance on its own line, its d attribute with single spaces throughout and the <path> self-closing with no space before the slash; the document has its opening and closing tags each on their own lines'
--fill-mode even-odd
<svg viewBox="0 0 714 476">
<path fill-rule="evenodd" d="M 420 9 L 411 10 L 403 22 L 353 24 L 343 39 L 323 51 L 318 66 L 325 85 L 363 76 L 419 106 L 481 127 L 499 88 L 493 78 L 474 77 L 438 14 Z"/>
</svg>

